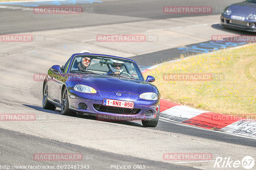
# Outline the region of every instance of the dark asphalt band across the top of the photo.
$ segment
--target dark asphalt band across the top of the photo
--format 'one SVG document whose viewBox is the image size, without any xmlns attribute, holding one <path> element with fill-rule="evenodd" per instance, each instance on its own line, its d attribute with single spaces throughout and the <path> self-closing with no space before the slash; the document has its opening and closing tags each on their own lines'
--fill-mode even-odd
<svg viewBox="0 0 256 170">
<path fill-rule="evenodd" d="M 63 3 L 62 3 L 63 2 Z M 65 3 L 66 2 L 66 3 Z M 79 2 L 78 0 L 75 2 Z M 86 1 L 85 1 L 86 2 Z M 93 1 L 92 1 L 93 2 Z M 100 3 L 102 2 L 102 3 Z M 186 3 L 186 5 L 184 4 Z M 237 1 L 239 2 L 239 1 Z M 61 6 L 77 6 L 72 4 L 74 1 L 68 3 L 68 1 L 60 1 Z M 19 32 L 33 32 L 33 31 L 45 31 L 52 29 L 63 29 L 63 28 L 77 28 L 86 26 L 98 26 L 107 24 L 127 23 L 134 21 L 146 21 L 166 18 L 180 18 L 188 16 L 202 16 L 202 14 L 164 14 L 164 6 L 211 6 L 213 12 L 211 15 L 219 14 L 220 8 L 225 8 L 228 4 L 234 3 L 232 0 L 225 2 L 219 0 L 195 0 L 193 2 L 188 1 L 155 1 L 155 0 L 130 0 L 130 1 L 97 1 L 90 4 L 79 4 L 83 7 L 84 13 L 82 15 L 31 15 L 27 10 L 32 10 L 36 5 L 47 6 L 47 3 L 29 3 L 35 5 L 21 5 L 15 4 L 1 4 L 0 6 L 12 6 L 22 7 L 23 9 L 8 10 L 3 7 L 1 9 L 1 34 L 7 33 L 19 33 Z M 40 5 L 42 4 L 42 5 Z M 48 3 L 49 4 L 49 3 Z M 52 4 L 58 5 L 58 4 Z M 88 13 L 86 13 L 86 8 Z M 92 13 L 89 9 L 93 9 Z M 215 10 L 215 9 L 218 10 Z M 23 11 L 24 10 L 24 11 Z"/>
</svg>

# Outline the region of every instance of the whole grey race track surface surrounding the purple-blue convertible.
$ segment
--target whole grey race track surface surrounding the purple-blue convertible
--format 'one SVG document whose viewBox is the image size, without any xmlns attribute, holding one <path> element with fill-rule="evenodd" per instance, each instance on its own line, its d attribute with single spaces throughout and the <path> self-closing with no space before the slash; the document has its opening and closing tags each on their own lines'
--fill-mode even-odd
<svg viewBox="0 0 256 170">
<path fill-rule="evenodd" d="M 44 110 L 41 105 L 43 82 L 35 80 L 35 74 L 45 74 L 55 64 L 63 65 L 70 55 L 82 50 L 131 57 L 140 67 L 149 67 L 176 59 L 184 47 L 210 43 L 212 35 L 248 34 L 218 25 L 218 10 L 235 2 L 240 1 L 0 2 L 0 35 L 43 37 L 32 42 L 0 41 L 0 114 L 36 115 L 35 121 L 0 121 L 0 169 L 3 165 L 83 164 L 90 169 L 132 165 L 137 167 L 133 169 L 208 170 L 214 169 L 217 157 L 241 161 L 245 156 L 252 156 L 255 159 L 255 138 L 164 119 L 159 119 L 156 128 L 144 128 L 141 121 L 102 122 L 85 114 L 68 117 L 61 115 L 60 109 Z M 50 5 L 80 6 L 91 11 L 67 15 L 33 13 L 33 7 Z M 164 14 L 164 6 L 211 6 L 213 10 L 211 14 Z M 143 43 L 102 43 L 95 39 L 98 34 L 145 34 L 158 39 Z M 38 161 L 33 158 L 36 153 L 81 153 L 83 160 Z M 211 153 L 212 159 L 164 160 L 164 153 Z"/>
</svg>

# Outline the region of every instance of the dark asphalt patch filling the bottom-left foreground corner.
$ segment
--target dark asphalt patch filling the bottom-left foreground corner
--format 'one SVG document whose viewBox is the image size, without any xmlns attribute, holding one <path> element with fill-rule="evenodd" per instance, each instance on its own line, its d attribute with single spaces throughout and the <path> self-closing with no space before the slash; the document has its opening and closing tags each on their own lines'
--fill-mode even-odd
<svg viewBox="0 0 256 170">
<path fill-rule="evenodd" d="M 114 154 L 111 152 L 104 152 L 95 150 L 92 148 L 82 147 L 79 145 L 71 145 L 68 143 L 58 142 L 55 140 L 49 140 L 45 138 L 39 138 L 31 135 L 26 135 L 14 131 L 8 131 L 1 129 L 1 150 L 4 152 L 12 152 L 12 154 L 2 157 L 1 161 L 7 165 L 34 165 L 34 160 L 30 155 L 34 153 L 45 152 L 47 147 L 52 152 L 58 153 L 82 153 L 84 157 L 83 164 L 90 165 L 90 169 L 106 169 L 113 165 L 147 165 L 150 169 L 195 169 L 191 167 L 184 167 L 180 165 L 173 165 L 163 163 L 160 161 L 153 161 L 147 159 L 138 159 L 131 156 L 125 156 L 120 154 Z M 15 139 L 15 140 L 13 140 Z M 29 145 L 25 146 L 24 143 Z M 38 147 L 41 145 L 43 147 Z M 20 153 L 22 152 L 22 154 Z M 15 159 L 13 160 L 15 156 Z M 99 161 L 100 160 L 100 161 Z M 66 163 L 66 162 L 65 162 Z M 64 163 L 64 164 L 65 164 Z M 80 161 L 72 162 L 74 165 L 81 165 Z M 57 167 L 63 164 L 61 161 L 51 162 L 48 165 Z M 38 163 L 38 165 L 44 166 L 45 163 Z"/>
</svg>

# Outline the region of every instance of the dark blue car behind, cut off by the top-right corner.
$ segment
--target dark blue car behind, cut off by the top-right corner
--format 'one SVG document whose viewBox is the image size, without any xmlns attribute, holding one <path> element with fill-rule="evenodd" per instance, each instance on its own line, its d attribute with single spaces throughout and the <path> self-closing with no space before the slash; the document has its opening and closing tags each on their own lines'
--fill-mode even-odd
<svg viewBox="0 0 256 170">
<path fill-rule="evenodd" d="M 220 25 L 256 32 L 256 0 L 244 0 L 226 7 L 220 16 Z"/>
</svg>

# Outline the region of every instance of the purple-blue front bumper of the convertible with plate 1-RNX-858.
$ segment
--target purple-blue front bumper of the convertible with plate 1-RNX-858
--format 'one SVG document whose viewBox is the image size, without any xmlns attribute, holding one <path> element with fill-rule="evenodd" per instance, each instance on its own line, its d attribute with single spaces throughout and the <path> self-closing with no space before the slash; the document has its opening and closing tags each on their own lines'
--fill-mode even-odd
<svg viewBox="0 0 256 170">
<path fill-rule="evenodd" d="M 116 96 L 116 93 L 117 92 L 97 91 L 95 94 L 90 94 L 68 89 L 69 109 L 75 112 L 113 120 L 152 120 L 156 118 L 158 110 L 157 105 L 159 106 L 160 99 L 150 101 L 140 99 L 139 95 L 121 93 L 121 96 Z M 75 98 L 71 98 L 70 95 Z M 134 109 L 102 106 L 104 98 L 134 102 Z M 86 104 L 82 105 L 86 107 L 81 107 L 81 103 Z M 102 107 L 104 108 L 100 109 Z M 129 110 L 131 111 L 129 112 Z M 150 112 L 152 112 L 151 115 L 148 114 Z"/>
</svg>

